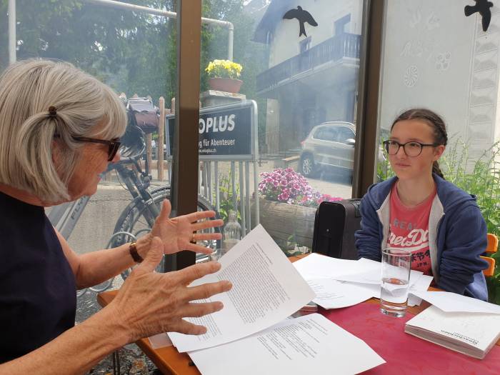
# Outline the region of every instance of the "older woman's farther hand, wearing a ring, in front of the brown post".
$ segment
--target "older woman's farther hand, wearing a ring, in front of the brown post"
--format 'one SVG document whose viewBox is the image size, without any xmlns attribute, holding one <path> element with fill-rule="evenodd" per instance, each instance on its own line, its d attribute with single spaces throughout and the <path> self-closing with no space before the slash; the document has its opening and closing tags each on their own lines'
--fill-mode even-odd
<svg viewBox="0 0 500 375">
<path fill-rule="evenodd" d="M 220 233 L 195 233 L 203 229 L 222 226 L 222 220 L 203 220 L 215 216 L 214 211 L 198 211 L 192 214 L 169 218 L 171 204 L 168 199 L 163 201 L 159 216 L 154 221 L 151 236 L 159 237 L 163 242 L 164 254 L 174 254 L 181 250 L 190 250 L 197 253 L 211 254 L 214 249 L 199 246 L 191 241 L 217 240 L 222 238 Z M 202 221 L 199 221 L 202 220 Z"/>
</svg>

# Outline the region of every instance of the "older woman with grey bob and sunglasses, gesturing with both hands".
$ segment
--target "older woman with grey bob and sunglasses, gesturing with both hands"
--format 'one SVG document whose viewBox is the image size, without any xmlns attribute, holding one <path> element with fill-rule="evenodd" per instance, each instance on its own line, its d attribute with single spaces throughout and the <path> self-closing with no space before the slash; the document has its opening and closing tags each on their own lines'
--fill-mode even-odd
<svg viewBox="0 0 500 375">
<path fill-rule="evenodd" d="M 0 374 L 80 374 L 124 344 L 164 331 L 203 334 L 182 318 L 222 309 L 191 303 L 231 289 L 229 281 L 188 287 L 218 263 L 158 274 L 162 254 L 209 249 L 194 232 L 219 221 L 198 212 L 169 219 L 165 201 L 151 234 L 77 255 L 44 206 L 96 192 L 119 160 L 124 106 L 109 87 L 70 64 L 21 61 L 0 77 Z M 196 234 L 196 240 L 219 234 Z M 144 261 L 143 261 L 144 260 Z M 77 288 L 141 262 L 106 308 L 74 326 Z"/>
</svg>

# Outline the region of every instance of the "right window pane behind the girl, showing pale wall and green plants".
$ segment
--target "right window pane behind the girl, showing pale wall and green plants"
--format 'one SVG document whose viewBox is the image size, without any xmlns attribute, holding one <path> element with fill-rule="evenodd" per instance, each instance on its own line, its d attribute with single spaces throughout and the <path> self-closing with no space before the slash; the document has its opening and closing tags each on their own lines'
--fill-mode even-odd
<svg viewBox="0 0 500 375">
<path fill-rule="evenodd" d="M 402 111 L 442 116 L 448 145 L 441 171 L 476 195 L 488 231 L 499 234 L 499 8 L 473 12 L 480 2 L 386 1 L 379 126 L 382 140 Z M 379 165 L 380 179 L 391 174 L 388 164 Z"/>
</svg>

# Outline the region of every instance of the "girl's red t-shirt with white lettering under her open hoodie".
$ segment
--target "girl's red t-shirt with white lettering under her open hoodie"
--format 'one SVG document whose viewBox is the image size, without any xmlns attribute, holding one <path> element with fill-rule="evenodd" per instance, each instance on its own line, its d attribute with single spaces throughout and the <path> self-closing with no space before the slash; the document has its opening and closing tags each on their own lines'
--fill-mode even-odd
<svg viewBox="0 0 500 375">
<path fill-rule="evenodd" d="M 413 207 L 405 206 L 398 196 L 396 184 L 391 189 L 391 222 L 387 247 L 411 251 L 411 269 L 432 275 L 429 254 L 429 215 L 436 188 L 425 201 Z"/>
</svg>

